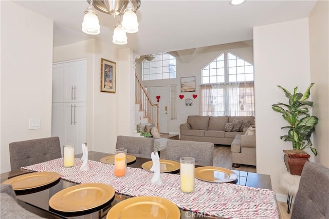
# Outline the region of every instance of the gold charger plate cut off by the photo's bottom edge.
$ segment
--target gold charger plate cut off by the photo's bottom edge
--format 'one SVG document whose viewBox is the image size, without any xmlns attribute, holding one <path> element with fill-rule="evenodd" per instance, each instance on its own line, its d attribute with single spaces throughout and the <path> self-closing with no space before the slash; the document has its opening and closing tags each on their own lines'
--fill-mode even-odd
<svg viewBox="0 0 329 219">
<path fill-rule="evenodd" d="M 169 200 L 161 197 L 131 197 L 113 206 L 106 219 L 120 218 L 180 218 L 180 210 Z"/>
</svg>

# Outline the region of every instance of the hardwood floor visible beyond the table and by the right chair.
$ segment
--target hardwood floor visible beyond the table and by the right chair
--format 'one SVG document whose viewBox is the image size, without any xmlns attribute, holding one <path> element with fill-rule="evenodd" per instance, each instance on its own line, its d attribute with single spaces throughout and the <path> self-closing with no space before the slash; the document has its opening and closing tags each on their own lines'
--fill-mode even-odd
<svg viewBox="0 0 329 219">
<path fill-rule="evenodd" d="M 214 166 L 224 167 L 230 170 L 241 170 L 247 172 L 256 172 L 255 166 L 241 165 L 240 168 L 232 167 L 231 147 L 230 145 L 215 145 L 214 147 Z M 285 202 L 278 202 L 280 219 L 289 219 L 293 209 L 291 205 L 290 213 L 287 213 L 288 206 Z"/>
</svg>

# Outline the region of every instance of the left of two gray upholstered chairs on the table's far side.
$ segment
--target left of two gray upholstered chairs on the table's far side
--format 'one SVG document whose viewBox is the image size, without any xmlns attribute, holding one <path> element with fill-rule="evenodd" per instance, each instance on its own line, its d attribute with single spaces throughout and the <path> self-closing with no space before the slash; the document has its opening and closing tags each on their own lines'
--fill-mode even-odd
<svg viewBox="0 0 329 219">
<path fill-rule="evenodd" d="M 154 138 L 119 135 L 116 148 L 126 148 L 127 154 L 137 157 L 151 158 L 151 153 L 154 151 Z"/>
</svg>

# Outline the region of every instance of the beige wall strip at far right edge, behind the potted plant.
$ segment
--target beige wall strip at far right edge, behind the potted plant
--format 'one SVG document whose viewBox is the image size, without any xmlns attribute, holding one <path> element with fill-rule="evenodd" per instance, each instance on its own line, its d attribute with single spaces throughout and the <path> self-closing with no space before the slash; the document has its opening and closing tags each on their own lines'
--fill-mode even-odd
<svg viewBox="0 0 329 219">
<path fill-rule="evenodd" d="M 311 92 L 313 114 L 319 123 L 314 133 L 314 146 L 318 151 L 315 162 L 329 167 L 329 2 L 318 1 L 309 16 L 310 76 L 315 83 Z"/>
</svg>

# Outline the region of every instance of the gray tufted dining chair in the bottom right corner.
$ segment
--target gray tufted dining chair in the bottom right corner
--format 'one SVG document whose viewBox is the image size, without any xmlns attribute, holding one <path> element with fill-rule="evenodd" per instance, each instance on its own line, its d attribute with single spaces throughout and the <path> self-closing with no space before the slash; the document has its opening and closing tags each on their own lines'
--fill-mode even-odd
<svg viewBox="0 0 329 219">
<path fill-rule="evenodd" d="M 305 163 L 290 218 L 329 218 L 329 168 Z"/>
</svg>

